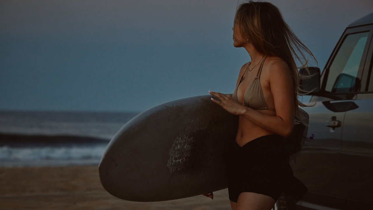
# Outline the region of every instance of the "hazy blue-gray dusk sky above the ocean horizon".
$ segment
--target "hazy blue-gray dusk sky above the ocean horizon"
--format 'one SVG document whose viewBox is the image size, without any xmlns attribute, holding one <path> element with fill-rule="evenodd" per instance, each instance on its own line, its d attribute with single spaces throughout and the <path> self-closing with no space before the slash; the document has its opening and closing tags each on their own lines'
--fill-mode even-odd
<svg viewBox="0 0 373 210">
<path fill-rule="evenodd" d="M 324 68 L 371 0 L 274 0 Z M 144 111 L 232 93 L 236 0 L 0 1 L 0 109 Z M 312 64 L 315 66 L 315 64 Z"/>
</svg>

